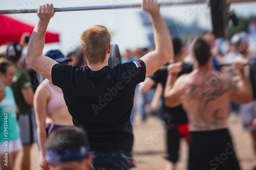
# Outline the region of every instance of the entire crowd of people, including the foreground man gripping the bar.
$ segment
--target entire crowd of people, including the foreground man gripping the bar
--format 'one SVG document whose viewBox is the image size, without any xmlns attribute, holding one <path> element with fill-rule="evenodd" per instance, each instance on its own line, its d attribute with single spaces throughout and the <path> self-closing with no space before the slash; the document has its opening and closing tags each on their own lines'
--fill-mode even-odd
<svg viewBox="0 0 256 170">
<path fill-rule="evenodd" d="M 188 169 L 240 169 L 227 129 L 232 114 L 241 114 L 256 157 L 246 33 L 234 35 L 225 52 L 209 31 L 184 43 L 169 36 L 155 1 L 143 1 L 142 8 L 151 15 L 155 47 L 126 50 L 122 64 L 110 68 L 111 37 L 98 25 L 81 34 L 81 51 L 42 55 L 54 11 L 52 4 L 39 7 L 29 44 L 25 33 L 0 54 L 2 169 L 14 169 L 18 152 L 20 169 L 30 169 L 34 142 L 44 169 L 135 169 L 132 124 L 136 113 L 145 122 L 149 110 L 167 130 L 172 169 L 181 138 L 189 147 Z M 167 69 L 159 70 L 163 65 Z M 225 161 L 216 160 L 223 152 Z"/>
</svg>

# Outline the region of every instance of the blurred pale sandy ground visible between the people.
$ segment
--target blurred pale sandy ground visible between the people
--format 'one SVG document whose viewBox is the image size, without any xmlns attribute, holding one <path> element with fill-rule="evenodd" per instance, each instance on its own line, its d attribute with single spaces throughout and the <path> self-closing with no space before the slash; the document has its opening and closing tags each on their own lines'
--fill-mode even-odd
<svg viewBox="0 0 256 170">
<path fill-rule="evenodd" d="M 251 138 L 249 133 L 243 131 L 241 119 L 239 116 L 229 118 L 229 129 L 236 148 L 237 156 L 243 170 L 251 170 L 256 165 L 253 159 L 253 150 L 251 147 Z M 165 131 L 161 125 L 161 121 L 152 116 L 148 116 L 145 123 L 141 123 L 140 116 L 135 116 L 134 123 L 134 158 L 137 162 L 139 170 L 169 170 L 170 164 L 164 159 L 165 154 Z M 178 170 L 186 169 L 188 148 L 184 140 L 182 140 L 180 148 L 180 161 Z M 31 169 L 39 170 L 38 165 L 38 148 L 34 144 L 31 153 Z M 19 170 L 18 155 L 15 163 L 15 170 Z"/>
</svg>

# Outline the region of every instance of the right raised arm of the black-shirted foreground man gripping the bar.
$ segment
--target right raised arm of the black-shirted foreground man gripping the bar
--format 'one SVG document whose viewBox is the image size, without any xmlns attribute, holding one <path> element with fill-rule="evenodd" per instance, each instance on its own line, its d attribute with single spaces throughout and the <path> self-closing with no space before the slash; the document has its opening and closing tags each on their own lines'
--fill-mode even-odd
<svg viewBox="0 0 256 170">
<path fill-rule="evenodd" d="M 169 31 L 160 15 L 157 1 L 143 0 L 142 8 L 150 13 L 154 28 L 154 39 L 156 50 L 141 58 L 146 65 L 146 77 L 152 75 L 161 66 L 167 63 L 174 56 L 173 44 Z"/>
</svg>

